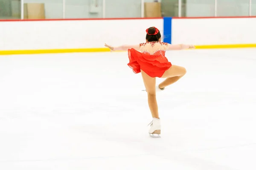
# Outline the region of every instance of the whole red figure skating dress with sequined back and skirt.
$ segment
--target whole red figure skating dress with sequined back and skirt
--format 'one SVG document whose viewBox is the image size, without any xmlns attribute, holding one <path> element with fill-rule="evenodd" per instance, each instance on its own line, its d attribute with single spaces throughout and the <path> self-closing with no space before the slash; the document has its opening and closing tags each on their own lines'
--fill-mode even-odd
<svg viewBox="0 0 256 170">
<path fill-rule="evenodd" d="M 168 43 L 165 42 L 146 42 L 140 44 L 140 51 L 134 48 L 128 49 L 130 62 L 128 66 L 134 73 L 143 70 L 150 77 L 162 77 L 172 63 L 165 57 Z"/>
</svg>

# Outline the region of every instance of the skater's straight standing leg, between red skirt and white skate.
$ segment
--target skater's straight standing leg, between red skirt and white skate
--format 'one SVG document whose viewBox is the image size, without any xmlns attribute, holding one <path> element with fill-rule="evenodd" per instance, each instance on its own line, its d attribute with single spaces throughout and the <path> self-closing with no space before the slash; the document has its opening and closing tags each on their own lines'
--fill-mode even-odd
<svg viewBox="0 0 256 170">
<path fill-rule="evenodd" d="M 159 119 L 158 115 L 158 106 L 157 106 L 157 98 L 156 98 L 156 78 L 148 76 L 144 71 L 141 70 L 141 75 L 143 78 L 143 82 L 148 93 L 148 106 L 151 111 L 151 115 L 153 118 Z"/>
</svg>

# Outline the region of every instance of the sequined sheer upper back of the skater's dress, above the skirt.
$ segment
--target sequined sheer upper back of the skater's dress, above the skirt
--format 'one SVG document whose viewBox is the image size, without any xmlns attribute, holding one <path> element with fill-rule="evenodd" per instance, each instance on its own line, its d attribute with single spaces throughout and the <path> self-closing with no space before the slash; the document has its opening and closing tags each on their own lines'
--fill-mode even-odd
<svg viewBox="0 0 256 170">
<path fill-rule="evenodd" d="M 145 54 L 165 56 L 167 45 L 166 42 L 145 42 L 140 44 L 140 51 Z"/>
</svg>

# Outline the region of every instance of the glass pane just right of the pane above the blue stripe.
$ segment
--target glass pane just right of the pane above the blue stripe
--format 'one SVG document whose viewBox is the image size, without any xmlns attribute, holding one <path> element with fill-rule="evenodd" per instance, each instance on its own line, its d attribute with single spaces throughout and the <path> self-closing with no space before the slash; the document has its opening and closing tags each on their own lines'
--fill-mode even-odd
<svg viewBox="0 0 256 170">
<path fill-rule="evenodd" d="M 182 17 L 214 17 L 214 6 L 215 0 L 186 0 Z"/>
</svg>

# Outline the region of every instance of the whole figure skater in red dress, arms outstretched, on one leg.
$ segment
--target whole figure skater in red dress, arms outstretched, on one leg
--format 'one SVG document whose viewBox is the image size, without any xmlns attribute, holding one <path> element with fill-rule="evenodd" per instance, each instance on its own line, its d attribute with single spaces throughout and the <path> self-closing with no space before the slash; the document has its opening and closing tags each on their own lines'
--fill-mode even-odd
<svg viewBox="0 0 256 170">
<path fill-rule="evenodd" d="M 143 82 L 148 93 L 148 106 L 153 120 L 148 131 L 151 137 L 160 137 L 161 124 L 158 115 L 156 92 L 163 91 L 165 87 L 177 82 L 186 74 L 186 69 L 177 65 L 172 65 L 165 57 L 167 50 L 183 50 L 195 48 L 193 45 L 171 45 L 161 42 L 160 31 L 155 27 L 146 29 L 146 42 L 137 45 L 122 45 L 113 47 L 105 44 L 111 51 L 128 51 L 130 62 L 128 66 L 135 74 L 142 74 Z M 141 52 L 139 52 L 141 51 Z M 156 86 L 156 77 L 166 78 Z"/>
</svg>

